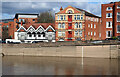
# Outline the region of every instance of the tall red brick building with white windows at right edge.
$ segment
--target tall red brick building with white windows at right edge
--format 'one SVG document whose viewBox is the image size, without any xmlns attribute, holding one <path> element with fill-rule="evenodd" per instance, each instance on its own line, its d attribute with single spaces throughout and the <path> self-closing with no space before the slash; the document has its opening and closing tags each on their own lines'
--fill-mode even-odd
<svg viewBox="0 0 120 77">
<path fill-rule="evenodd" d="M 120 36 L 120 2 L 102 4 L 102 39 Z"/>
</svg>

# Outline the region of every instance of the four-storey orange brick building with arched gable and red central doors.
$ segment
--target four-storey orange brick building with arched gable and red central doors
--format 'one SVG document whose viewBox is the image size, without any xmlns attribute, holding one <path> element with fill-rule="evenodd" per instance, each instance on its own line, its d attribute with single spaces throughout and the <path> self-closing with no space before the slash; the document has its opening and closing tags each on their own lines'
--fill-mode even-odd
<svg viewBox="0 0 120 77">
<path fill-rule="evenodd" d="M 55 14 L 56 41 L 100 40 L 101 18 L 68 6 Z"/>
</svg>

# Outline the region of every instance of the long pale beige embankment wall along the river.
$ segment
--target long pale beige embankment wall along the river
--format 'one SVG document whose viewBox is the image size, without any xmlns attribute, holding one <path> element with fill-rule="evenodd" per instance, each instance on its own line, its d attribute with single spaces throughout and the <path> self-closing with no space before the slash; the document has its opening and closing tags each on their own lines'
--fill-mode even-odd
<svg viewBox="0 0 120 77">
<path fill-rule="evenodd" d="M 11 47 L 2 48 L 4 55 L 22 56 L 58 56 L 58 57 L 94 57 L 118 58 L 119 45 L 99 46 L 59 46 L 59 47 Z"/>
</svg>

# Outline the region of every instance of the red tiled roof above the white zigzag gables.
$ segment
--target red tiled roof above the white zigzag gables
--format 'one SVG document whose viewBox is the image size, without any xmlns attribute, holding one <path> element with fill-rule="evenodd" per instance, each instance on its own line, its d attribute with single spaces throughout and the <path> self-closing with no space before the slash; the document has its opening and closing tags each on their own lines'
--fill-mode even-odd
<svg viewBox="0 0 120 77">
<path fill-rule="evenodd" d="M 46 29 L 49 25 L 51 25 L 55 29 L 55 23 L 33 23 L 33 24 L 25 24 L 23 27 L 27 30 L 30 26 L 33 26 L 35 29 L 37 29 L 40 25 Z"/>
</svg>

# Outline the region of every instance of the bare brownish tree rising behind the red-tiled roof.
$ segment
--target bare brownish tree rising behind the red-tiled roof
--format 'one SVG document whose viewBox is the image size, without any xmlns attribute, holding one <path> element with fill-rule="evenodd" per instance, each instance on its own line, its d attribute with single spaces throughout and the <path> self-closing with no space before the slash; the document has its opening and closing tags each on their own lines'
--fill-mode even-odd
<svg viewBox="0 0 120 77">
<path fill-rule="evenodd" d="M 54 21 L 55 21 L 55 18 L 52 14 L 52 11 L 42 12 L 38 16 L 39 23 L 54 23 Z"/>
</svg>

